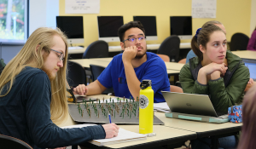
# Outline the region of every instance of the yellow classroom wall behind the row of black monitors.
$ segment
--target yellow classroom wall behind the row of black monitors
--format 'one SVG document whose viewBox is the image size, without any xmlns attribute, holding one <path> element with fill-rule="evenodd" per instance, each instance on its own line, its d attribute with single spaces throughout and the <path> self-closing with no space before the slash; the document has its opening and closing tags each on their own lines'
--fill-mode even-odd
<svg viewBox="0 0 256 149">
<path fill-rule="evenodd" d="M 59 14 L 84 16 L 84 46 L 98 40 L 98 15 L 123 15 L 124 23 L 133 20 L 133 15 L 155 15 L 158 40 L 147 43 L 161 43 L 170 36 L 170 16 L 191 15 L 191 3 L 192 0 L 101 0 L 100 14 L 65 14 L 65 0 L 60 0 Z M 193 19 L 193 34 L 208 20 L 218 20 L 226 27 L 228 41 L 236 32 L 250 36 L 251 3 L 252 0 L 217 0 L 216 19 Z M 119 45 L 119 42 L 109 45 Z"/>
</svg>

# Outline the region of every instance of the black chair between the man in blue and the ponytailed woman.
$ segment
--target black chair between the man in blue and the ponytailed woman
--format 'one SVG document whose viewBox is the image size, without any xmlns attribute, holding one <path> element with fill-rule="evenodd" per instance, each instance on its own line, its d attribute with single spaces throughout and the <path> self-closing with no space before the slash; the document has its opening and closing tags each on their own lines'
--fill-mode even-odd
<svg viewBox="0 0 256 149">
<path fill-rule="evenodd" d="M 179 55 L 179 37 L 172 35 L 167 37 L 160 45 L 157 54 L 166 54 L 170 57 L 170 61 L 178 61 Z"/>
</svg>

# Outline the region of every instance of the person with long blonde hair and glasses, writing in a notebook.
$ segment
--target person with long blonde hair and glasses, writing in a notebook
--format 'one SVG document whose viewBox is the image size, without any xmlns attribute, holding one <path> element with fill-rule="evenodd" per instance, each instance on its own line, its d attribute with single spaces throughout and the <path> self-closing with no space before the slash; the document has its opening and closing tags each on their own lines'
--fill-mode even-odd
<svg viewBox="0 0 256 149">
<path fill-rule="evenodd" d="M 33 148 L 72 146 L 118 135 L 113 123 L 61 129 L 67 119 L 67 37 L 59 29 L 38 28 L 0 76 L 0 134 Z"/>
</svg>

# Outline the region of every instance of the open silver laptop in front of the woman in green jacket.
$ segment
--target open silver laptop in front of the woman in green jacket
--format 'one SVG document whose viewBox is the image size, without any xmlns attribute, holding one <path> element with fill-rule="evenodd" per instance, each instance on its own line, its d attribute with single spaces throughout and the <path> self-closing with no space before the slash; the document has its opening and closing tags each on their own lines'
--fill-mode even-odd
<svg viewBox="0 0 256 149">
<path fill-rule="evenodd" d="M 215 112 L 208 95 L 195 95 L 162 91 L 171 112 L 218 117 L 227 113 Z M 228 109 L 227 109 L 228 110 Z"/>
</svg>

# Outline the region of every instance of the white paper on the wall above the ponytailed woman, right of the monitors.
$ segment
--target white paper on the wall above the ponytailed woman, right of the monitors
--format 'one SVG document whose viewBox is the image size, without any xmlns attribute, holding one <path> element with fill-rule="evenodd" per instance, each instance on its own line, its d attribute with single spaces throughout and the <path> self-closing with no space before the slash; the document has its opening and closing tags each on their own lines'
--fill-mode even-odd
<svg viewBox="0 0 256 149">
<path fill-rule="evenodd" d="M 216 0 L 192 0 L 192 18 L 216 18 Z"/>
</svg>

